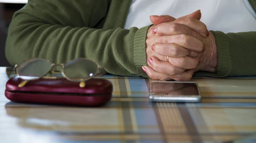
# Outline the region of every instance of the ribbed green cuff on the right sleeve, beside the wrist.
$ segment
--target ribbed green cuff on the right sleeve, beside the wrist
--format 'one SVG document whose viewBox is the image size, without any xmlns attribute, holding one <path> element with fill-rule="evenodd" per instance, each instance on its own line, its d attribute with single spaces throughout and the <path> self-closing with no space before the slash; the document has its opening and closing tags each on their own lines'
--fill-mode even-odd
<svg viewBox="0 0 256 143">
<path fill-rule="evenodd" d="M 195 75 L 226 77 L 231 72 L 231 58 L 229 51 L 229 42 L 225 33 L 221 31 L 211 31 L 214 34 L 218 49 L 218 67 L 216 73 L 198 71 Z"/>
</svg>

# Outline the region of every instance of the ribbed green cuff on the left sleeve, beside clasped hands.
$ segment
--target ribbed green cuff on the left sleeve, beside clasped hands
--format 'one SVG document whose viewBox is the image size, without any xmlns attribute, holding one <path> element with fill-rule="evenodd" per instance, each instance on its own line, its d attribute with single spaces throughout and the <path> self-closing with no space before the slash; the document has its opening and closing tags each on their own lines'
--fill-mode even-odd
<svg viewBox="0 0 256 143">
<path fill-rule="evenodd" d="M 146 35 L 148 32 L 148 28 L 150 26 L 151 25 L 140 28 L 135 34 L 134 43 L 133 43 L 133 58 L 134 58 L 137 74 L 147 78 L 148 78 L 148 75 L 142 70 L 141 67 L 147 65 Z"/>
</svg>

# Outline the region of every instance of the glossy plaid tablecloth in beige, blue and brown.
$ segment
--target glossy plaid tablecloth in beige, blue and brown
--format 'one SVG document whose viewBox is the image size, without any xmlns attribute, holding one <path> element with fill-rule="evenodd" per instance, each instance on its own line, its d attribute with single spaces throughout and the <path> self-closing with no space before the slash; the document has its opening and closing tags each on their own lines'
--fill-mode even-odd
<svg viewBox="0 0 256 143">
<path fill-rule="evenodd" d="M 11 71 L 10 71 L 11 72 Z M 12 72 L 8 74 L 12 77 Z M 150 102 L 149 79 L 105 75 L 112 100 L 84 108 L 22 104 L 6 99 L 1 140 L 32 142 L 256 142 L 256 79 L 193 78 L 201 103 Z M 3 93 L 3 92 L 2 92 Z M 3 95 L 2 95 L 3 96 Z M 13 125 L 8 125 L 13 124 Z M 7 132 L 6 132 L 7 129 Z M 7 134 L 15 134 L 9 138 Z M 28 137 L 30 136 L 30 137 Z"/>
</svg>

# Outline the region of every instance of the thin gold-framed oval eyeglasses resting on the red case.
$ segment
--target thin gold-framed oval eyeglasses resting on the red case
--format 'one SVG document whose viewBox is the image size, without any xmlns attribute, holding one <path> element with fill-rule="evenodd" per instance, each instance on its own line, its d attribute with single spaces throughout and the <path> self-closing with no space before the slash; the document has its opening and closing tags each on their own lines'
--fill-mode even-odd
<svg viewBox="0 0 256 143">
<path fill-rule="evenodd" d="M 95 75 L 105 74 L 105 71 L 99 64 L 86 58 L 77 58 L 66 64 L 52 64 L 48 60 L 34 58 L 15 65 L 17 76 L 24 80 L 18 86 L 23 87 L 28 81 L 40 79 L 50 74 L 53 71 L 53 67 L 60 67 L 62 76 L 69 81 L 80 82 L 80 87 L 84 87 L 85 81 Z"/>
</svg>

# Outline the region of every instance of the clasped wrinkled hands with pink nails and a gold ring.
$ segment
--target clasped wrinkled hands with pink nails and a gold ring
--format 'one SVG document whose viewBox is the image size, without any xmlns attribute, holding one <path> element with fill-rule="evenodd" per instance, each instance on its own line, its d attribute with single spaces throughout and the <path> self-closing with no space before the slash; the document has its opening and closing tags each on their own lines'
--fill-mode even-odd
<svg viewBox="0 0 256 143">
<path fill-rule="evenodd" d="M 188 81 L 195 71 L 216 71 L 215 38 L 200 18 L 200 10 L 177 19 L 150 16 L 154 25 L 146 38 L 148 66 L 142 67 L 150 78 Z"/>
</svg>

